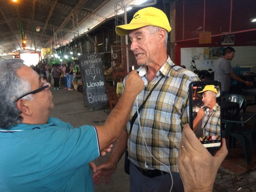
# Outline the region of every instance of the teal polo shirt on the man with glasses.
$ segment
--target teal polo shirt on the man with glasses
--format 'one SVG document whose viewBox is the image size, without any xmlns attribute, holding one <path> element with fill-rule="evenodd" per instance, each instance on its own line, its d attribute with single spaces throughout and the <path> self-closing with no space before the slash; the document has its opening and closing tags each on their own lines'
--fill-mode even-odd
<svg viewBox="0 0 256 192">
<path fill-rule="evenodd" d="M 99 155 L 94 126 L 50 117 L 47 124 L 0 129 L 0 191 L 94 191 L 88 163 Z"/>
</svg>

